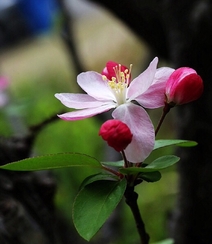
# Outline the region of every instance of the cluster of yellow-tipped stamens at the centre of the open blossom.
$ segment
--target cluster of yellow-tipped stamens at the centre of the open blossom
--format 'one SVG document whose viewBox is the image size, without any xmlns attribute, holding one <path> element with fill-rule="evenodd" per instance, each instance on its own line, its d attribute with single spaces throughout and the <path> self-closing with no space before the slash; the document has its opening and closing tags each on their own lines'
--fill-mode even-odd
<svg viewBox="0 0 212 244">
<path fill-rule="evenodd" d="M 116 97 L 117 104 L 121 105 L 126 102 L 126 90 L 131 81 L 132 65 L 130 65 L 130 69 L 123 70 L 123 66 L 119 64 L 114 66 L 113 69 L 115 77 L 113 76 L 111 80 L 109 80 L 105 75 L 103 75 L 102 78 L 103 80 L 108 81 L 108 85 Z"/>
</svg>

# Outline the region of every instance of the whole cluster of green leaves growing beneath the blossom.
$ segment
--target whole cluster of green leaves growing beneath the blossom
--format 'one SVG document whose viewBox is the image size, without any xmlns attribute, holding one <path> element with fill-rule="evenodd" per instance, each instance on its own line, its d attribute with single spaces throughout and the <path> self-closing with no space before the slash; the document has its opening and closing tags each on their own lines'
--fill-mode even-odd
<svg viewBox="0 0 212 244">
<path fill-rule="evenodd" d="M 155 150 L 167 146 L 194 146 L 195 142 L 185 140 L 159 140 L 155 143 Z M 152 162 L 143 163 L 141 167 L 123 168 L 123 160 L 118 162 L 100 163 L 94 157 L 80 153 L 57 153 L 20 160 L 3 165 L 6 170 L 31 171 L 59 168 L 96 168 L 103 169 L 115 166 L 114 170 L 126 175 L 134 175 L 138 182 L 156 182 L 161 179 L 160 170 L 166 169 L 179 161 L 179 157 L 165 155 Z M 106 168 L 104 168 L 106 169 Z M 98 173 L 88 176 L 81 184 L 73 205 L 73 222 L 78 233 L 90 240 L 108 219 L 112 211 L 123 198 L 127 181 L 111 173 Z"/>
</svg>

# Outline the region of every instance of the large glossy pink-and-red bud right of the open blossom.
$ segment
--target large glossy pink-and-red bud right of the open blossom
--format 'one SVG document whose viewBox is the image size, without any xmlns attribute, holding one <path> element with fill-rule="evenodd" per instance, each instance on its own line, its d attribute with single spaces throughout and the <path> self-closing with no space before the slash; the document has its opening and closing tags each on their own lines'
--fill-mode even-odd
<svg viewBox="0 0 212 244">
<path fill-rule="evenodd" d="M 166 83 L 166 103 L 181 105 L 198 99 L 203 92 L 202 78 L 194 69 L 176 69 Z"/>
</svg>

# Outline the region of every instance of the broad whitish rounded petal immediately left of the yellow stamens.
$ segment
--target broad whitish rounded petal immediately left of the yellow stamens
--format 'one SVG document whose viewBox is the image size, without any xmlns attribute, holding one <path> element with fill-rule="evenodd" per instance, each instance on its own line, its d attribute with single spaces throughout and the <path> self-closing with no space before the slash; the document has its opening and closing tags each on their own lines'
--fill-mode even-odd
<svg viewBox="0 0 212 244">
<path fill-rule="evenodd" d="M 77 83 L 88 95 L 97 100 L 116 101 L 115 96 L 108 86 L 108 82 L 103 80 L 102 75 L 97 72 L 88 71 L 79 74 L 77 76 Z"/>
</svg>

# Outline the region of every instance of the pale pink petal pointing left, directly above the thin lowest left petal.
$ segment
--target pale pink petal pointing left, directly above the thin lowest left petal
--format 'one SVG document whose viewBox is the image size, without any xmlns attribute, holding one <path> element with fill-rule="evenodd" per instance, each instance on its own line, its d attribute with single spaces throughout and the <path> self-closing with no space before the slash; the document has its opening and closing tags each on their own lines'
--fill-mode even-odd
<svg viewBox="0 0 212 244">
<path fill-rule="evenodd" d="M 94 108 L 108 103 L 98 101 L 87 94 L 57 93 L 55 97 L 66 107 L 75 109 Z"/>
</svg>

